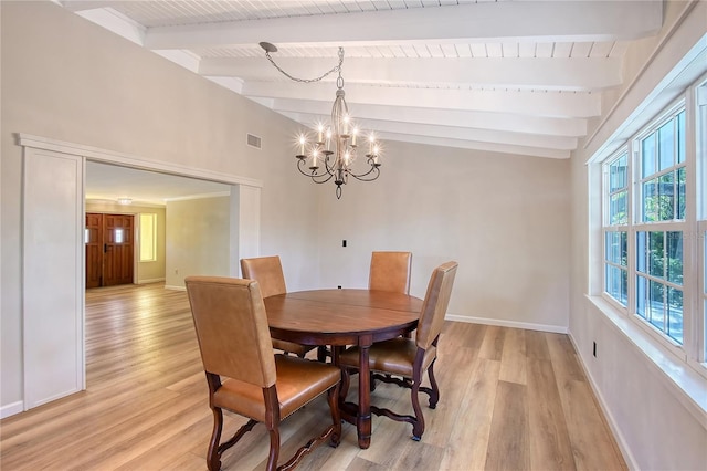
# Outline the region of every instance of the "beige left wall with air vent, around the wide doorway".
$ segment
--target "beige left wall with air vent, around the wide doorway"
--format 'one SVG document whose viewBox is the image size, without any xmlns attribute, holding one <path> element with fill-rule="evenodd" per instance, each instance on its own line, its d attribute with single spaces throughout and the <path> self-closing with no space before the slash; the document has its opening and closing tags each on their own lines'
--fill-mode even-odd
<svg viewBox="0 0 707 471">
<path fill-rule="evenodd" d="M 316 273 L 317 259 L 310 254 L 316 252 L 318 213 L 298 205 L 312 199 L 315 189 L 291 178 L 294 163 L 283 149 L 289 149 L 297 128 L 289 119 L 51 2 L 2 1 L 0 9 L 3 410 L 23 397 L 22 153 L 17 133 L 260 179 L 262 231 L 268 234 L 263 250 Z M 246 146 L 246 133 L 262 137 L 262 150 Z"/>
</svg>

